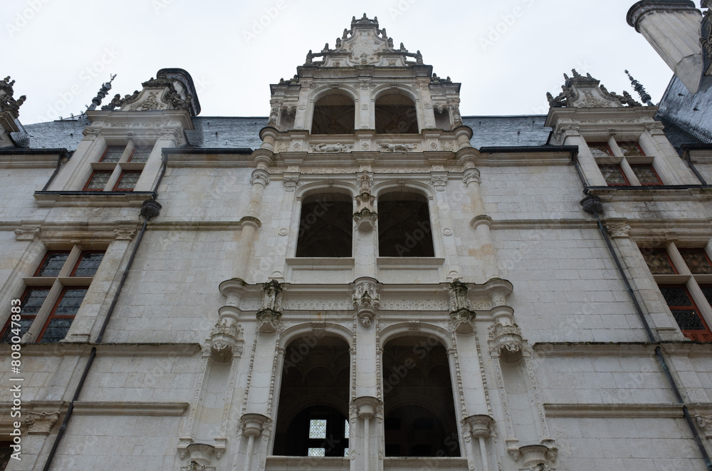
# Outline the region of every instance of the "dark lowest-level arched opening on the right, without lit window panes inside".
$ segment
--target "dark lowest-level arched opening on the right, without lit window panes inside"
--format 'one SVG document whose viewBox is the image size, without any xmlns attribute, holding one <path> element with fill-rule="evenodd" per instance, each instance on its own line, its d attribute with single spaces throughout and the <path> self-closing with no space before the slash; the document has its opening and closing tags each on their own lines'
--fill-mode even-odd
<svg viewBox="0 0 712 471">
<path fill-rule="evenodd" d="M 383 384 L 386 456 L 460 456 L 447 351 L 436 338 L 389 341 Z"/>
</svg>

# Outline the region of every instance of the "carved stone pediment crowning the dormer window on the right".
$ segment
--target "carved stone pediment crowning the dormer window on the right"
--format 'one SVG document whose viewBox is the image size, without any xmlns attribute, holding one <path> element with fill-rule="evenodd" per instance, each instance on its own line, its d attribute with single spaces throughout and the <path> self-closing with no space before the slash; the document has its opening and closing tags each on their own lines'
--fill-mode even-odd
<svg viewBox="0 0 712 471">
<path fill-rule="evenodd" d="M 557 97 L 547 93 L 550 108 L 622 108 L 623 106 L 642 106 L 628 92 L 623 95 L 609 92 L 601 82 L 587 73 L 582 76 L 575 69 L 573 76 L 564 74 L 565 84 Z"/>
</svg>

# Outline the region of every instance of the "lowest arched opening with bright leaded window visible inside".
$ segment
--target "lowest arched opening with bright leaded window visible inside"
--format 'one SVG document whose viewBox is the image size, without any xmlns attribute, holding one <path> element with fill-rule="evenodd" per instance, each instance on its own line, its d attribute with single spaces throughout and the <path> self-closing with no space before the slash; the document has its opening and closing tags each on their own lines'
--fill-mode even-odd
<svg viewBox="0 0 712 471">
<path fill-rule="evenodd" d="M 274 455 L 347 455 L 349 368 L 349 346 L 340 338 L 312 335 L 289 343 Z"/>
</svg>

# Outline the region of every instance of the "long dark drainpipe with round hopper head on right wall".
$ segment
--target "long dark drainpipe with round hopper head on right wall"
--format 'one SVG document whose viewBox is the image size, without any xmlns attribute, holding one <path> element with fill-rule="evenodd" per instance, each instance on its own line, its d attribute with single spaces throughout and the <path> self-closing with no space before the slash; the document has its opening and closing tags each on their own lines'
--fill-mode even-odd
<svg viewBox="0 0 712 471">
<path fill-rule="evenodd" d="M 682 413 L 685 417 L 685 422 L 687 423 L 688 427 L 690 428 L 690 431 L 692 432 L 692 435 L 695 439 L 697 447 L 700 450 L 700 453 L 701 453 L 702 458 L 705 462 L 707 470 L 712 471 L 712 460 L 710 460 L 710 457 L 707 454 L 707 450 L 702 442 L 702 438 L 700 437 L 700 433 L 698 432 L 697 427 L 695 426 L 695 423 L 693 422 L 693 420 L 690 416 L 690 412 L 687 409 L 687 405 L 685 404 L 685 401 L 682 398 L 682 394 L 680 393 L 680 388 L 678 387 L 678 385 L 675 381 L 675 378 L 673 378 L 672 374 L 670 373 L 670 368 L 669 368 L 668 363 L 665 359 L 665 356 L 663 355 L 663 353 L 661 351 L 659 341 L 656 340 L 656 338 L 653 334 L 653 331 L 650 328 L 650 324 L 648 324 L 647 319 L 645 319 L 642 306 L 639 304 L 638 299 L 635 297 L 633 288 L 630 284 L 628 276 L 625 274 L 625 271 L 624 271 L 623 266 L 620 262 L 618 254 L 616 253 L 616 251 L 613 247 L 613 244 L 611 243 L 611 239 L 608 236 L 608 232 L 606 232 L 606 229 L 604 229 L 604 227 L 603 227 L 603 223 L 601 222 L 601 217 L 600 217 L 600 214 L 603 212 L 603 205 L 601 204 L 601 200 L 597 196 L 587 196 L 584 198 L 584 200 L 582 200 L 581 205 L 583 206 L 584 211 L 588 212 L 590 214 L 593 214 L 594 217 L 596 218 L 596 221 L 598 222 L 598 229 L 601 232 L 601 236 L 603 237 L 604 241 L 606 242 L 608 250 L 611 253 L 611 257 L 613 257 L 613 260 L 616 264 L 618 272 L 619 272 L 621 278 L 623 279 L 623 283 L 625 284 L 626 289 L 628 291 L 628 296 L 630 296 L 631 301 L 633 301 L 633 305 L 635 306 L 635 310 L 638 314 L 638 317 L 641 320 L 641 322 L 645 328 L 645 332 L 648 337 L 648 341 L 650 343 L 658 344 L 655 347 L 655 356 L 658 360 L 660 368 L 663 371 L 665 378 L 667 379 L 667 381 L 670 385 L 670 388 L 672 389 L 672 391 L 675 395 L 675 398 L 677 399 L 678 403 L 682 405 Z"/>
</svg>

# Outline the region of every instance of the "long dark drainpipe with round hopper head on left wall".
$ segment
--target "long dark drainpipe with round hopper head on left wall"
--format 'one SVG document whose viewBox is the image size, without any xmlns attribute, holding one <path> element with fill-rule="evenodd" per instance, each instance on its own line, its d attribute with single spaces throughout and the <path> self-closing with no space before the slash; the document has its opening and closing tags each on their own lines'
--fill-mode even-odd
<svg viewBox="0 0 712 471">
<path fill-rule="evenodd" d="M 136 257 L 136 252 L 138 251 L 138 247 L 141 244 L 141 240 L 143 239 L 143 234 L 146 232 L 146 226 L 147 226 L 148 222 L 150 221 L 150 219 L 152 219 L 153 217 L 156 217 L 159 214 L 160 210 L 161 210 L 161 205 L 156 200 L 146 200 L 145 202 L 143 202 L 143 206 L 141 207 L 141 215 L 144 217 L 143 227 L 141 228 L 141 232 L 138 234 L 136 243 L 134 244 L 134 248 L 131 252 L 131 257 L 129 257 L 129 261 L 126 264 L 126 268 L 124 269 L 124 272 L 121 276 L 121 281 L 119 282 L 119 286 L 116 289 L 116 293 L 114 294 L 114 297 L 111 300 L 111 305 L 109 306 L 109 311 L 106 314 L 104 323 L 101 326 L 101 330 L 99 331 L 99 335 L 96 339 L 96 343 L 101 343 L 101 341 L 104 338 L 104 332 L 106 331 L 106 326 L 108 326 L 109 320 L 111 319 L 111 316 L 114 313 L 114 309 L 116 307 L 116 303 L 119 299 L 119 295 L 121 294 L 121 290 L 122 290 L 124 283 L 126 281 L 126 277 L 128 276 L 129 271 L 131 269 L 131 265 L 133 264 L 134 258 Z M 59 442 L 62 440 L 64 433 L 67 430 L 67 425 L 69 423 L 69 420 L 72 417 L 72 413 L 74 411 L 74 403 L 77 401 L 77 399 L 79 398 L 79 394 L 82 392 L 82 389 L 84 387 L 84 382 L 85 382 L 85 380 L 88 376 L 88 373 L 89 373 L 89 369 L 91 368 L 92 364 L 94 363 L 94 358 L 96 358 L 96 347 L 95 346 L 92 347 L 92 349 L 91 349 L 91 353 L 89 354 L 89 359 L 87 360 L 87 363 L 84 366 L 84 372 L 82 373 L 82 377 L 79 380 L 77 389 L 74 392 L 72 402 L 69 403 L 69 408 L 67 409 L 67 413 L 64 416 L 64 420 L 62 422 L 62 425 L 59 428 L 57 436 L 54 439 L 54 443 L 52 444 L 52 449 L 49 452 L 47 461 L 45 462 L 45 465 L 42 468 L 42 471 L 49 471 L 50 466 L 52 465 L 52 460 L 54 459 L 54 455 L 57 452 Z"/>
</svg>

